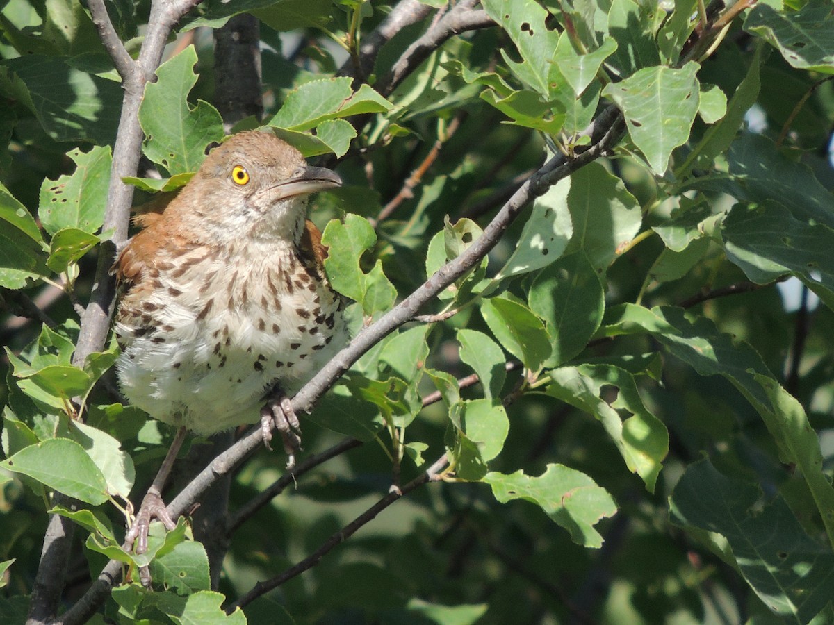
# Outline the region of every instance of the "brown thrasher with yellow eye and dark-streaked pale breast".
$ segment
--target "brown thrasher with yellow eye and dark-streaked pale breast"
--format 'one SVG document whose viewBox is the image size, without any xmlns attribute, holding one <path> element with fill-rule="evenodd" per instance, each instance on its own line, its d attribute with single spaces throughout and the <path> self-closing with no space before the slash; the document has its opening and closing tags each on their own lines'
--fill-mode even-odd
<svg viewBox="0 0 834 625">
<path fill-rule="evenodd" d="M 321 233 L 305 220 L 309 193 L 341 183 L 272 134 L 239 133 L 161 213 L 138 218 L 114 266 L 118 380 L 130 403 L 180 429 L 128 532 L 137 552 L 152 517 L 173 527 L 161 491 L 186 429 L 255 423 L 260 408 L 264 440 L 275 423 L 292 466 L 298 420 L 284 393 L 346 340 Z"/>
</svg>

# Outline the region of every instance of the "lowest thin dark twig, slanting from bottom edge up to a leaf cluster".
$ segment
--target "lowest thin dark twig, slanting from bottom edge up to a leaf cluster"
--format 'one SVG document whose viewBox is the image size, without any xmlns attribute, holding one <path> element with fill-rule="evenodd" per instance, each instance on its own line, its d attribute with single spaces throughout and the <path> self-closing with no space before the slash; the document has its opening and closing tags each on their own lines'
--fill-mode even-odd
<svg viewBox="0 0 834 625">
<path fill-rule="evenodd" d="M 232 605 L 226 608 L 227 613 L 234 612 L 237 607 L 244 607 L 249 605 L 249 603 L 253 602 L 258 597 L 261 597 L 266 592 L 273 590 L 274 588 L 279 587 L 284 582 L 289 581 L 293 577 L 296 577 L 303 573 L 304 571 L 308 570 L 309 568 L 314 567 L 319 560 L 321 560 L 324 555 L 328 552 L 332 551 L 334 547 L 339 545 L 340 543 L 347 540 L 349 537 L 353 536 L 354 533 L 359 530 L 360 527 L 364 526 L 366 523 L 372 521 L 379 512 L 382 512 L 386 507 L 389 507 L 392 503 L 396 502 L 399 498 L 402 498 L 404 495 L 407 495 L 414 488 L 422 486 L 425 483 L 432 482 L 437 479 L 437 474 L 445 468 L 445 466 L 449 463 L 446 459 L 445 454 L 440 457 L 433 465 L 425 473 L 422 473 L 420 477 L 414 478 L 411 482 L 407 483 L 404 487 L 397 489 L 392 493 L 388 493 L 385 495 L 384 498 L 381 498 L 378 502 L 374 503 L 373 506 L 369 507 L 365 512 L 359 515 L 359 517 L 354 518 L 353 521 L 349 522 L 345 525 L 339 532 L 334 533 L 331 537 L 329 537 L 321 547 L 316 549 L 313 553 L 311 553 L 308 557 L 305 557 L 304 560 L 296 564 L 294 567 L 289 567 L 286 571 L 282 572 L 280 575 L 272 577 L 265 582 L 258 582 L 255 584 L 254 588 L 247 592 L 244 597 L 241 597 L 238 601 L 234 602 Z"/>
</svg>

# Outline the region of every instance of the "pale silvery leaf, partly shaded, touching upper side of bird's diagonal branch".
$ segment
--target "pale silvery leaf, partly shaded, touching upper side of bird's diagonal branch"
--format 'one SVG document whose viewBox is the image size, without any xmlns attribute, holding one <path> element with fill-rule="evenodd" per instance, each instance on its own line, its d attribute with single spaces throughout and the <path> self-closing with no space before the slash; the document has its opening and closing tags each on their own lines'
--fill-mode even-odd
<svg viewBox="0 0 834 625">
<path fill-rule="evenodd" d="M 567 205 L 569 191 L 570 178 L 562 178 L 547 193 L 535 198 L 515 250 L 496 279 L 535 271 L 561 256 L 573 234 Z"/>
</svg>

